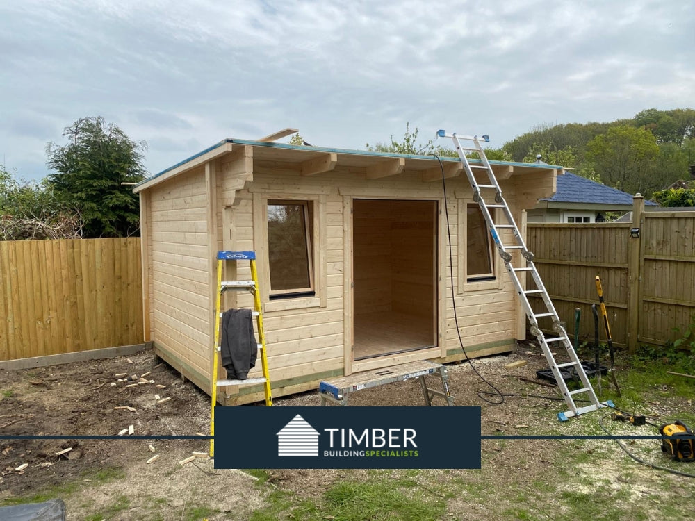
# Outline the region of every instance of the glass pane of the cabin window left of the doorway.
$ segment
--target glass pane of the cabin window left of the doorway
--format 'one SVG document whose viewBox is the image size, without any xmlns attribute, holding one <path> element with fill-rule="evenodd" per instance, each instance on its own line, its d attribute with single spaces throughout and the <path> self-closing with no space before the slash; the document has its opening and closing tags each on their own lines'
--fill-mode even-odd
<svg viewBox="0 0 695 521">
<path fill-rule="evenodd" d="M 268 201 L 270 290 L 311 287 L 306 203 Z"/>
</svg>

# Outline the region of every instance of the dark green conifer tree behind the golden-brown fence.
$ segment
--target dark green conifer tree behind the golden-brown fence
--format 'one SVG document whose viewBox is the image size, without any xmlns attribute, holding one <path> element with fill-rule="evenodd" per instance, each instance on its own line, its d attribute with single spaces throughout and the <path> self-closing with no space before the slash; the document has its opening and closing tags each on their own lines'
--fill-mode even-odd
<svg viewBox="0 0 695 521">
<path fill-rule="evenodd" d="M 145 142 L 133 141 L 104 118 L 83 117 L 63 132 L 69 142 L 47 146 L 48 181 L 56 197 L 79 209 L 85 237 L 123 237 L 139 233 L 138 198 L 130 186 L 147 171 Z"/>
</svg>

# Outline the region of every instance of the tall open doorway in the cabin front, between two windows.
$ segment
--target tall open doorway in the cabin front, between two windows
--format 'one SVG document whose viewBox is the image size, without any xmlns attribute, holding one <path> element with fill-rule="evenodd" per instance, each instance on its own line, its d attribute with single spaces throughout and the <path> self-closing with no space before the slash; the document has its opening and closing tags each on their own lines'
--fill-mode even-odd
<svg viewBox="0 0 695 521">
<path fill-rule="evenodd" d="M 436 345 L 436 201 L 354 199 L 354 360 Z"/>
</svg>

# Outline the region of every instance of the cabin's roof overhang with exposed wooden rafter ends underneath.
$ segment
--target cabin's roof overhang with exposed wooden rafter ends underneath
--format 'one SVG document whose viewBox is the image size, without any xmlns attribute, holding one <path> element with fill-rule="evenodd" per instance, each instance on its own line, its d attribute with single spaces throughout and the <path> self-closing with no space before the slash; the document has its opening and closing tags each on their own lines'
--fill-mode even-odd
<svg viewBox="0 0 695 521">
<path fill-rule="evenodd" d="M 420 172 L 423 182 L 438 181 L 443 176 L 451 178 L 463 173 L 459 158 L 435 158 L 414 154 L 392 154 L 366 150 L 332 149 L 325 147 L 306 147 L 302 145 L 227 139 L 214 144 L 195 156 L 140 181 L 133 192 L 152 188 L 174 176 L 188 172 L 209 161 L 222 158 L 235 149 L 252 147 L 254 161 L 285 163 L 296 167 L 303 176 L 316 176 L 331 172 L 337 166 L 364 169 L 366 179 L 381 179 L 396 176 L 404 171 Z M 440 163 L 441 160 L 441 163 Z M 471 159 L 471 164 L 481 161 Z M 508 161 L 489 161 L 499 180 L 508 179 L 512 174 L 523 175 L 541 172 L 562 172 L 562 167 L 539 165 L 536 163 L 514 163 Z"/>
</svg>

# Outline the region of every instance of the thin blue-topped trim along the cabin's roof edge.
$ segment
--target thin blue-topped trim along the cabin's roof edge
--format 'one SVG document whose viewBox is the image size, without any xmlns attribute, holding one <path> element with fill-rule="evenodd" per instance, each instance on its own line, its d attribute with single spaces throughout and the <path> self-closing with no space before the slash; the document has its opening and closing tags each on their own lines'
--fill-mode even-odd
<svg viewBox="0 0 695 521">
<path fill-rule="evenodd" d="M 441 131 L 440 131 L 441 132 Z M 334 149 L 334 148 L 326 148 L 326 147 L 305 147 L 304 145 L 301 144 L 286 144 L 286 143 L 273 143 L 273 142 L 265 142 L 265 141 L 251 141 L 251 140 L 239 140 L 239 139 L 226 139 L 222 140 L 218 143 L 213 144 L 213 146 L 208 147 L 204 149 L 203 151 L 198 152 L 197 154 L 194 154 L 193 156 L 190 156 L 190 158 L 184 159 L 183 161 L 179 161 L 176 165 L 173 165 L 165 170 L 162 170 L 158 174 L 154 174 L 154 176 L 148 177 L 147 179 L 143 179 L 136 185 L 136 188 L 140 185 L 143 185 L 145 183 L 149 183 L 149 181 L 152 181 L 153 179 L 157 179 L 159 176 L 162 176 L 163 174 L 166 174 L 167 172 L 171 172 L 173 169 L 176 169 L 180 166 L 186 165 L 186 163 L 194 160 L 195 158 L 199 158 L 200 156 L 207 154 L 209 151 L 212 151 L 218 147 L 221 147 L 223 144 L 227 143 L 232 143 L 232 144 L 244 144 L 244 145 L 250 145 L 251 147 L 267 147 L 267 148 L 274 148 L 274 149 L 284 149 L 284 150 L 304 150 L 304 151 L 313 151 L 313 152 L 329 152 L 332 154 L 353 154 L 355 156 L 375 156 L 375 157 L 386 157 L 386 158 L 405 158 L 405 159 L 424 159 L 428 161 L 435 161 L 434 156 L 431 155 L 416 155 L 416 154 L 396 154 L 395 152 L 376 152 L 372 150 L 351 150 L 351 149 Z M 449 162 L 449 163 L 459 163 L 461 160 L 459 158 L 449 158 L 449 157 L 441 157 L 440 158 L 443 163 Z M 469 163 L 482 163 L 480 159 L 469 159 Z M 512 166 L 512 167 L 532 167 L 532 168 L 542 168 L 542 169 L 549 169 L 549 168 L 554 168 L 554 169 L 562 169 L 561 166 L 558 165 L 539 165 L 538 163 L 517 163 L 515 161 L 496 161 L 496 160 L 491 160 L 489 161 L 491 165 L 505 165 L 505 166 Z"/>
</svg>

